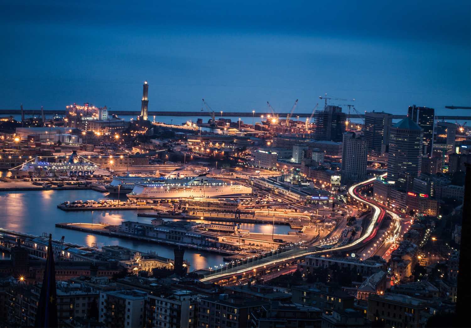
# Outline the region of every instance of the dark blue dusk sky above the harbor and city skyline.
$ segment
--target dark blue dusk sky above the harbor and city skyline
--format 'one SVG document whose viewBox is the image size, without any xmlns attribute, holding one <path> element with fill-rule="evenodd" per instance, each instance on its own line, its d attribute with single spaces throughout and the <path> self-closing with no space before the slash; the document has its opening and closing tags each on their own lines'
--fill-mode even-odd
<svg viewBox="0 0 471 328">
<path fill-rule="evenodd" d="M 168 2 L 2 1 L 0 109 L 470 106 L 470 1 Z"/>
</svg>

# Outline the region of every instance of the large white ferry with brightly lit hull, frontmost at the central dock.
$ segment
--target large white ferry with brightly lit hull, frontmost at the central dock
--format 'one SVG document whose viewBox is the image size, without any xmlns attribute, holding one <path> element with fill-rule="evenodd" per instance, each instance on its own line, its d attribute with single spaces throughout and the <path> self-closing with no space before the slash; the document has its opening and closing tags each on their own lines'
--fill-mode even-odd
<svg viewBox="0 0 471 328">
<path fill-rule="evenodd" d="M 252 188 L 237 184 L 226 183 L 219 179 L 202 176 L 191 179 L 186 184 L 136 184 L 129 198 L 187 198 L 187 197 L 236 197 L 249 196 Z"/>
</svg>

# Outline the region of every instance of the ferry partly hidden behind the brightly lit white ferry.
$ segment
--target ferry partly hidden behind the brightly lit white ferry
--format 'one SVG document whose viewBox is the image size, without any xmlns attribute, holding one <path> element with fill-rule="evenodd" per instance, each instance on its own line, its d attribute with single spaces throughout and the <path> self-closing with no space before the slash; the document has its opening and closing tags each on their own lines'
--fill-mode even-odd
<svg viewBox="0 0 471 328">
<path fill-rule="evenodd" d="M 134 176 L 127 174 L 125 176 L 114 176 L 109 185 L 103 185 L 108 193 L 130 193 L 136 184 L 161 184 L 161 185 L 181 185 L 189 182 L 194 177 L 199 176 L 199 170 L 185 170 L 177 168 L 164 177 L 152 176 Z"/>
</svg>

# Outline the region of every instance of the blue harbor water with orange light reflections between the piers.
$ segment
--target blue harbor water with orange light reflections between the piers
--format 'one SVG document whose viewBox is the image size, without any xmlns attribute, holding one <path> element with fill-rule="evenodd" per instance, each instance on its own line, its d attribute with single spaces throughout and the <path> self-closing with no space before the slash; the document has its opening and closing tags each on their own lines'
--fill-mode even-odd
<svg viewBox="0 0 471 328">
<path fill-rule="evenodd" d="M 1 185 L 1 183 L 0 183 Z M 138 217 L 138 211 L 149 213 L 152 210 L 111 210 L 111 211 L 69 211 L 57 208 L 59 203 L 75 200 L 101 200 L 108 199 L 108 194 L 93 190 L 40 190 L 0 192 L 0 227 L 32 235 L 52 233 L 54 239 L 65 236 L 65 242 L 97 247 L 103 245 L 121 245 L 147 252 L 154 251 L 158 255 L 173 258 L 173 247 L 161 244 L 150 244 L 123 238 L 114 238 L 103 235 L 92 235 L 80 231 L 73 231 L 56 227 L 60 222 L 82 222 L 119 225 L 122 221 L 138 221 L 150 223 L 152 218 Z M 116 196 L 110 196 L 115 198 Z M 121 197 L 122 198 L 122 197 Z M 251 232 L 271 234 L 272 226 L 268 224 L 242 224 L 242 229 Z M 289 226 L 276 225 L 275 234 L 286 234 L 291 231 Z M 214 267 L 224 263 L 223 256 L 211 252 L 187 250 L 185 259 L 191 264 L 191 270 Z"/>
</svg>

